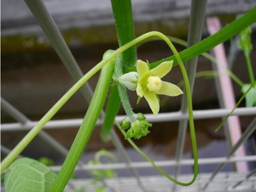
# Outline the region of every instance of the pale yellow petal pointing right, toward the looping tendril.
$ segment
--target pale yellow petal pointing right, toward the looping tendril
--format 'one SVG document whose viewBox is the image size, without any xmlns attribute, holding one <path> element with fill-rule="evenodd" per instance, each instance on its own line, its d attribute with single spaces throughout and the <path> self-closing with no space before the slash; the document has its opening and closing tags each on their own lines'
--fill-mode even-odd
<svg viewBox="0 0 256 192">
<path fill-rule="evenodd" d="M 180 94 L 183 94 L 183 92 L 178 86 L 166 81 L 162 81 L 162 86 L 160 90 L 156 92 L 156 94 L 178 96 Z"/>
</svg>

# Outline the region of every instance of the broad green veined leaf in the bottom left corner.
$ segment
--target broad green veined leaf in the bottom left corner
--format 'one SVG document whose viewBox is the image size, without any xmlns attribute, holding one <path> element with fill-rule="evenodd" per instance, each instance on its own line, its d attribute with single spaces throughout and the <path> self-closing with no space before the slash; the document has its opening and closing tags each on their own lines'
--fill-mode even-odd
<svg viewBox="0 0 256 192">
<path fill-rule="evenodd" d="M 6 192 L 48 192 L 56 174 L 44 164 L 30 158 L 15 160 L 6 170 Z"/>
</svg>

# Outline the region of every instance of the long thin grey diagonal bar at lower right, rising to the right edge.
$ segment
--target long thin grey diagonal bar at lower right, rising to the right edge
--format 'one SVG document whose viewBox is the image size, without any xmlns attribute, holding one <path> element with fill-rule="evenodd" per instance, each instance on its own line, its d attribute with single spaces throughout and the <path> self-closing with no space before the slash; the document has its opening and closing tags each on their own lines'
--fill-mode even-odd
<svg viewBox="0 0 256 192">
<path fill-rule="evenodd" d="M 242 144 L 249 138 L 249 136 L 256 130 L 256 118 L 252 120 L 248 128 L 245 130 L 245 132 L 242 134 L 241 138 L 236 142 L 236 144 L 230 149 L 229 154 L 227 155 L 227 159 L 229 159 L 235 152 L 242 146 Z M 218 172 L 222 170 L 222 168 L 226 165 L 226 162 L 223 162 L 220 164 L 216 170 L 212 173 L 209 181 L 204 186 L 204 190 L 207 188 L 207 186 L 210 184 L 210 182 L 213 180 L 213 178 L 216 176 Z"/>
</svg>

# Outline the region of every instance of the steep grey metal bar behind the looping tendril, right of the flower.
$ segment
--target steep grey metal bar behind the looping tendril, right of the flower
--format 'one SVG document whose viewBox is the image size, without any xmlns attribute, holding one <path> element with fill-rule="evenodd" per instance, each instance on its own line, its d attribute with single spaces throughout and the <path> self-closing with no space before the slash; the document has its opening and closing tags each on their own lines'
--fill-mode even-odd
<svg viewBox="0 0 256 192">
<path fill-rule="evenodd" d="M 188 27 L 188 47 L 196 44 L 202 38 L 206 5 L 207 5 L 207 0 L 192 0 L 191 1 L 190 19 L 189 19 L 189 27 Z M 186 71 L 188 73 L 188 79 L 190 82 L 191 94 L 193 93 L 197 60 L 198 60 L 198 57 L 195 57 L 192 60 L 189 60 L 185 65 Z M 188 110 L 188 104 L 187 104 L 187 99 L 186 99 L 186 91 L 184 90 L 184 94 L 182 95 L 180 111 L 183 114 L 186 114 L 187 110 Z M 177 139 L 177 145 L 176 145 L 176 155 L 175 155 L 178 165 L 175 168 L 174 178 L 177 178 L 178 174 L 180 172 L 179 162 L 182 159 L 187 126 L 188 126 L 187 119 L 180 121 L 179 130 L 178 130 L 178 139 Z"/>
</svg>

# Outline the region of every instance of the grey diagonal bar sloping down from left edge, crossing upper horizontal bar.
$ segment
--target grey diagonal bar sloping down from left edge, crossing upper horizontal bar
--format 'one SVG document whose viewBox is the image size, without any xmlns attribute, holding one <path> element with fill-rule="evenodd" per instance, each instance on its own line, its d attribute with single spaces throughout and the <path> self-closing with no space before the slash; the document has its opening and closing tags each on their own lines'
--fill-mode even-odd
<svg viewBox="0 0 256 192">
<path fill-rule="evenodd" d="M 26 126 L 27 124 L 31 124 L 29 118 L 27 118 L 22 112 L 18 109 L 14 108 L 10 103 L 8 103 L 4 98 L 1 97 L 1 109 L 4 110 L 7 114 L 9 114 L 12 118 L 19 121 L 22 125 Z M 52 136 L 44 132 L 44 130 L 38 133 L 38 136 L 42 138 L 46 143 L 49 143 L 54 147 L 60 154 L 64 157 L 68 154 L 68 150 L 62 146 L 59 142 L 57 142 Z"/>
</svg>

